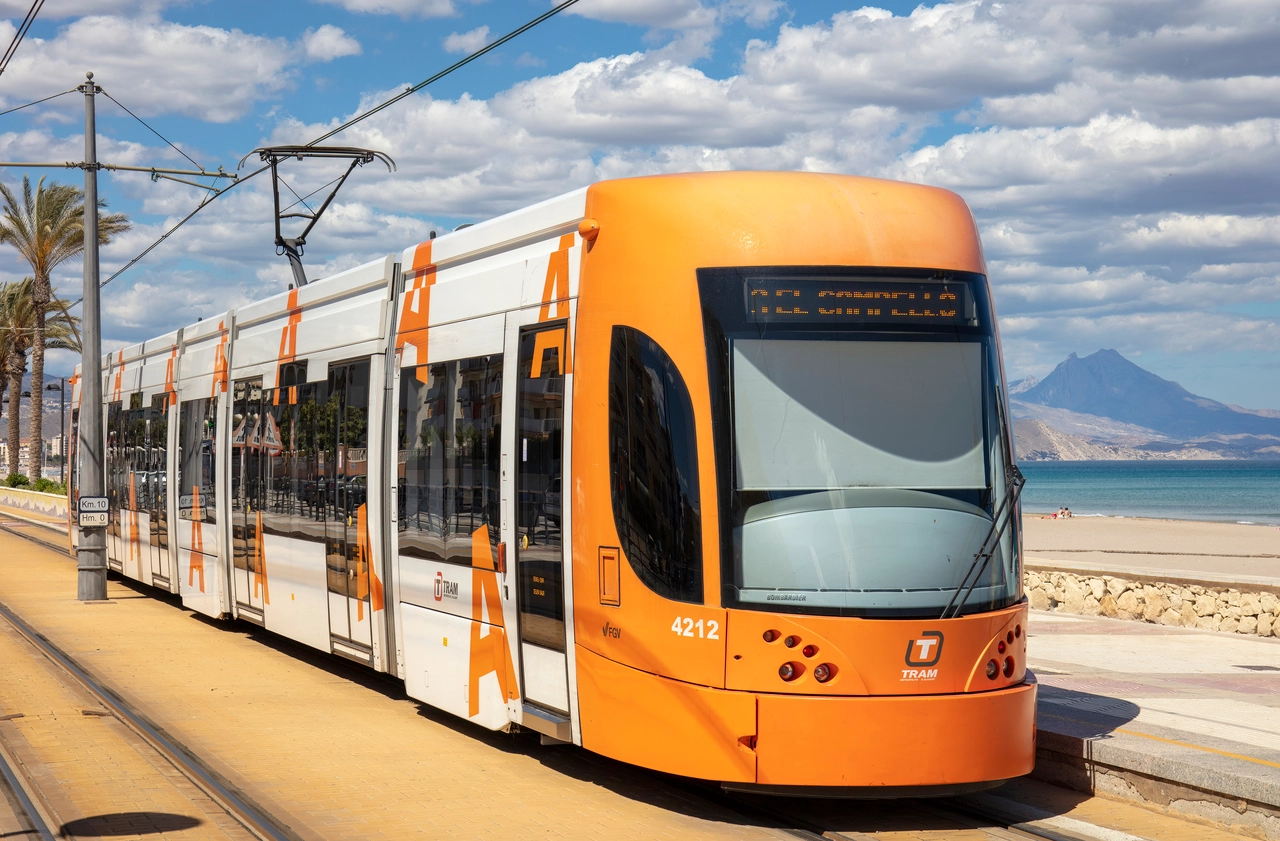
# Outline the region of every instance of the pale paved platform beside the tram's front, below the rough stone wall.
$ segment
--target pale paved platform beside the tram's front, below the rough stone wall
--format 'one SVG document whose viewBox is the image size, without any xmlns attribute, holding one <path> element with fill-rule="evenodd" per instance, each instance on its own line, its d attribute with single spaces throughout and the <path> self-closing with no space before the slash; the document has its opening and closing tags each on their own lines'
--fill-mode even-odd
<svg viewBox="0 0 1280 841">
<path fill-rule="evenodd" d="M 1280 640 L 1033 612 L 1036 776 L 1280 838 Z"/>
</svg>

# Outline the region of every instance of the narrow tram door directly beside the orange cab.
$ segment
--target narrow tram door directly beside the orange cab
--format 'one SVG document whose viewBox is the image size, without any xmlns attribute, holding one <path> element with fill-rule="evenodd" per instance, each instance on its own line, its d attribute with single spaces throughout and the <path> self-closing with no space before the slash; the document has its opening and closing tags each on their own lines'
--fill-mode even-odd
<svg viewBox="0 0 1280 841">
<path fill-rule="evenodd" d="M 564 652 L 564 374 L 568 323 L 520 334 L 516 398 L 516 565 L 525 699 L 568 714 Z"/>
</svg>

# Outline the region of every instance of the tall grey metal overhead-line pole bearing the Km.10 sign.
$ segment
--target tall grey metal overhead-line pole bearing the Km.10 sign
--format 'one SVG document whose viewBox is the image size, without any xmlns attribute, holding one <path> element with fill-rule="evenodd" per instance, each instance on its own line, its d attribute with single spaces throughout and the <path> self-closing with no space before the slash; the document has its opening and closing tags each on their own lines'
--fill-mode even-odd
<svg viewBox="0 0 1280 841">
<path fill-rule="evenodd" d="M 97 124 L 93 97 L 97 84 L 86 73 L 84 84 L 84 308 L 83 347 L 81 351 L 81 425 L 79 452 L 81 497 L 105 497 L 102 472 L 102 333 L 97 285 Z M 81 529 L 76 597 L 81 602 L 106 599 L 106 530 Z"/>
</svg>

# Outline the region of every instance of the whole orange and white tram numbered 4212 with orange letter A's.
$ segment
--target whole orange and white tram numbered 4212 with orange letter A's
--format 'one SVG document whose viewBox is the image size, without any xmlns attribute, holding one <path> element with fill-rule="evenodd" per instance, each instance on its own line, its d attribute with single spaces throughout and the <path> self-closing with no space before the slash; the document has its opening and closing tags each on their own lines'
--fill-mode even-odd
<svg viewBox="0 0 1280 841">
<path fill-rule="evenodd" d="M 111 353 L 104 393 L 110 566 L 193 611 L 735 789 L 1032 769 L 954 193 L 602 182 Z"/>
</svg>

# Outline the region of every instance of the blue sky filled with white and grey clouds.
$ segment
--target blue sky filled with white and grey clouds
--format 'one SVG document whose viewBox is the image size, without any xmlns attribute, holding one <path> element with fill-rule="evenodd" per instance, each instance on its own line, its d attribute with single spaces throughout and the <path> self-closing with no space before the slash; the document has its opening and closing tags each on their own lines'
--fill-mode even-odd
<svg viewBox="0 0 1280 841">
<path fill-rule="evenodd" d="M 28 5 L 0 0 L 0 41 Z M 64 0 L 46 4 L 0 100 L 92 69 L 196 160 L 230 169 L 550 5 Z M 1196 393 L 1280 407 L 1280 0 L 581 0 L 573 12 L 339 136 L 388 151 L 399 172 L 352 177 L 311 237 L 310 270 L 600 178 L 901 178 L 974 209 L 1011 376 L 1114 347 Z M 73 95 L 0 118 L 0 159 L 78 159 L 81 108 Z M 99 111 L 102 160 L 183 164 L 110 102 Z M 306 192 L 329 177 L 289 179 Z M 265 188 L 228 193 L 108 287 L 109 347 L 284 288 Z M 105 251 L 108 273 L 200 198 L 141 175 L 106 175 L 101 191 L 137 223 Z M 19 276 L 0 251 L 0 279 Z M 78 265 L 59 273 L 73 297 L 78 278 Z"/>
</svg>

